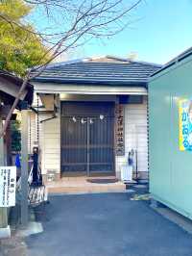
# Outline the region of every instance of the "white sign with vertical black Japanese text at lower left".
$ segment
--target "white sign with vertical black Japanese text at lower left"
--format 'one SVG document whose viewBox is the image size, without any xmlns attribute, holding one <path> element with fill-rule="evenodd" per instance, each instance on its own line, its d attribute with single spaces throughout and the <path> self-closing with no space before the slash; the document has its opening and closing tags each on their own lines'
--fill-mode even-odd
<svg viewBox="0 0 192 256">
<path fill-rule="evenodd" d="M 0 166 L 0 207 L 15 205 L 16 167 Z"/>
</svg>

